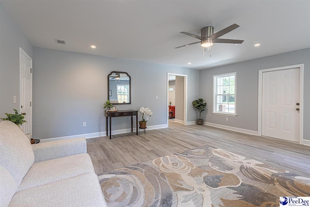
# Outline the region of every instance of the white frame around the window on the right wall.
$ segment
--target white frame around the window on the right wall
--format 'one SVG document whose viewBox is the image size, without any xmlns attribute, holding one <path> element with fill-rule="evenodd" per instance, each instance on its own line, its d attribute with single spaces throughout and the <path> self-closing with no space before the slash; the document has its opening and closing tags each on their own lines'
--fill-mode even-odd
<svg viewBox="0 0 310 207">
<path fill-rule="evenodd" d="M 228 113 L 228 112 L 218 112 L 217 111 L 217 78 L 221 77 L 227 77 L 234 75 L 234 113 Z M 213 111 L 212 114 L 214 115 L 223 115 L 223 116 L 237 116 L 237 72 L 232 72 L 232 73 L 225 73 L 225 74 L 218 74 L 218 75 L 213 75 Z"/>
</svg>

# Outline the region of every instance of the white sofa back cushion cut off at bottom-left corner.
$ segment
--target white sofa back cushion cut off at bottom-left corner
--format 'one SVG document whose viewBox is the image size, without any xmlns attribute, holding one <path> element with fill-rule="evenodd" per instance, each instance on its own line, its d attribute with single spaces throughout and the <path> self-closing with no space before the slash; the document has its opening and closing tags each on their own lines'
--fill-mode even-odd
<svg viewBox="0 0 310 207">
<path fill-rule="evenodd" d="M 17 190 L 12 175 L 0 165 L 0 207 L 7 207 Z"/>
</svg>

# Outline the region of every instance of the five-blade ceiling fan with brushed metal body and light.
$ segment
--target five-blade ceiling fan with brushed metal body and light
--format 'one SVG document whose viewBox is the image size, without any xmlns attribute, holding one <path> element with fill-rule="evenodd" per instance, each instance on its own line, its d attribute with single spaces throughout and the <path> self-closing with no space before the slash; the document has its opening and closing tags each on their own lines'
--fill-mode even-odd
<svg viewBox="0 0 310 207">
<path fill-rule="evenodd" d="M 199 39 L 200 41 L 186 44 L 177 48 L 183 48 L 190 45 L 195 45 L 200 43 L 203 48 L 211 47 L 214 43 L 231 43 L 231 44 L 241 44 L 244 40 L 231 40 L 231 39 L 218 39 L 218 37 L 223 36 L 224 34 L 233 31 L 234 29 L 237 29 L 239 25 L 233 24 L 219 32 L 214 32 L 214 27 L 208 26 L 201 29 L 201 36 L 191 34 L 188 32 L 180 32 L 182 34 L 186 34 L 191 37 L 195 37 Z M 175 49 L 177 49 L 175 48 Z"/>
</svg>

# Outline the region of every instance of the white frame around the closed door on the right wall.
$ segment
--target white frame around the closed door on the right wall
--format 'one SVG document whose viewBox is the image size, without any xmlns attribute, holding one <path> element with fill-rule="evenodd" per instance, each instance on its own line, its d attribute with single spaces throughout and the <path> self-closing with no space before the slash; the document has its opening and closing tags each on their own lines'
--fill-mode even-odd
<svg viewBox="0 0 310 207">
<path fill-rule="evenodd" d="M 303 128 L 304 128 L 304 64 L 294 64 L 283 67 L 274 67 L 268 69 L 261 69 L 258 71 L 258 136 L 262 136 L 262 101 L 263 101 L 263 72 L 270 72 L 276 70 L 286 70 L 292 68 L 299 68 L 299 143 L 303 144 Z"/>
</svg>

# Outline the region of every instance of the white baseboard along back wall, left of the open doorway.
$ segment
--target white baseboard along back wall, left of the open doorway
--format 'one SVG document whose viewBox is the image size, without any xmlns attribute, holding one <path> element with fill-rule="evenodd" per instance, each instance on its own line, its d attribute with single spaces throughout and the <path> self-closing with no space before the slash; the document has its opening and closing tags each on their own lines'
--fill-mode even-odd
<svg viewBox="0 0 310 207">
<path fill-rule="evenodd" d="M 154 126 L 147 126 L 146 130 L 152 130 L 152 129 L 158 129 L 158 128 L 167 128 L 167 125 L 154 125 Z M 136 131 L 136 127 L 133 128 L 133 131 Z M 124 134 L 131 132 L 131 128 L 125 128 L 125 129 L 117 129 L 112 130 L 112 135 L 115 134 Z M 89 134 L 78 134 L 78 135 L 72 135 L 72 136 L 65 136 L 65 137 L 56 137 L 56 138 L 48 138 L 48 139 L 42 139 L 40 142 L 52 142 L 52 141 L 58 141 L 58 140 L 67 140 L 67 139 L 73 139 L 78 137 L 85 137 L 86 139 L 96 138 L 96 137 L 104 137 L 107 136 L 107 131 L 101 131 L 101 132 L 95 132 L 95 133 L 89 133 Z"/>
</svg>

